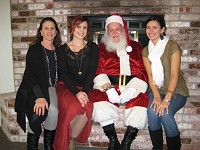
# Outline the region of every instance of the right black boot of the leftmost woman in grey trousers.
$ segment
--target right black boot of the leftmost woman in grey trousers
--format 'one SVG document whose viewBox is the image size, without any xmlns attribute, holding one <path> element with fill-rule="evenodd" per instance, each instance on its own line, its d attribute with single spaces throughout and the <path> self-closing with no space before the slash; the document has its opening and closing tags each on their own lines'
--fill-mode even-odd
<svg viewBox="0 0 200 150">
<path fill-rule="evenodd" d="M 53 141 L 55 138 L 56 130 L 46 130 L 44 129 L 44 149 L 53 150 Z"/>
</svg>

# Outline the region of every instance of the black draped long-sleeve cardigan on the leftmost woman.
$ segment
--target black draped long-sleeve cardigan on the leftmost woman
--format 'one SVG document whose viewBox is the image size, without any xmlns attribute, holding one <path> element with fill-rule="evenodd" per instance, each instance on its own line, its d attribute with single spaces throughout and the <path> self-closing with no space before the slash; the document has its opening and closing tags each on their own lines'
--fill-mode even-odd
<svg viewBox="0 0 200 150">
<path fill-rule="evenodd" d="M 47 51 L 47 55 L 50 61 L 55 61 L 53 54 Z M 50 69 L 55 62 L 50 62 Z M 55 69 L 51 69 L 52 81 L 55 81 Z M 48 71 L 45 58 L 44 47 L 41 43 L 32 45 L 26 55 L 26 69 L 20 87 L 17 91 L 15 100 L 15 111 L 17 112 L 17 122 L 20 127 L 26 131 L 26 118 L 28 117 L 29 125 L 35 134 L 40 135 L 41 133 L 41 123 L 47 117 L 47 110 L 44 116 L 36 117 L 33 112 L 33 107 L 35 105 L 35 100 L 37 98 L 45 98 L 50 103 L 49 100 L 49 80 Z"/>
</svg>

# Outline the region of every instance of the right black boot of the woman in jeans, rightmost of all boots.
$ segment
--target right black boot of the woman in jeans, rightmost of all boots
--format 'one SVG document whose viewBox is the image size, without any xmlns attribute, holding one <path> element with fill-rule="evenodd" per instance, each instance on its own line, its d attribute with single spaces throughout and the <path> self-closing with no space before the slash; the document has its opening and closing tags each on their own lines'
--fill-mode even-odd
<svg viewBox="0 0 200 150">
<path fill-rule="evenodd" d="M 175 137 L 166 137 L 168 150 L 180 150 L 181 149 L 181 139 L 180 133 Z"/>
</svg>

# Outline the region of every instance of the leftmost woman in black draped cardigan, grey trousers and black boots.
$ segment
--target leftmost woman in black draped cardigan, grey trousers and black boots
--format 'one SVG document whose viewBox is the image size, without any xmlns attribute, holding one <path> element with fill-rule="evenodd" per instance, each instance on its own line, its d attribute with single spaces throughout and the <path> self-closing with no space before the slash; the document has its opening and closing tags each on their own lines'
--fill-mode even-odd
<svg viewBox="0 0 200 150">
<path fill-rule="evenodd" d="M 17 91 L 15 111 L 17 122 L 26 132 L 28 118 L 27 150 L 37 150 L 44 126 L 44 148 L 53 150 L 57 126 L 58 81 L 57 52 L 61 44 L 60 31 L 52 17 L 43 18 L 37 30 L 36 40 L 28 49 L 26 68 Z"/>
</svg>

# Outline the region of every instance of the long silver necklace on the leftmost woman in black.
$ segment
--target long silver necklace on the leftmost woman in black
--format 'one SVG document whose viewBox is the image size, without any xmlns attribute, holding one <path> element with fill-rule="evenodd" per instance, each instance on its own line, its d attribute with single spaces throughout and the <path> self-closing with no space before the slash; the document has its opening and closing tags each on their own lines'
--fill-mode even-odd
<svg viewBox="0 0 200 150">
<path fill-rule="evenodd" d="M 58 73 L 57 73 L 57 70 L 58 70 L 58 65 L 57 65 L 57 56 L 56 56 L 56 52 L 54 50 L 54 59 L 55 59 L 55 62 L 56 62 L 56 75 L 55 75 L 55 83 L 52 85 L 52 80 L 51 80 L 51 71 L 50 71 L 50 65 L 49 65 L 49 57 L 47 55 L 47 52 L 46 52 L 46 49 L 44 47 L 44 52 L 45 52 L 45 55 L 46 55 L 46 61 L 47 61 L 47 68 L 48 68 L 48 73 L 49 73 L 49 84 L 51 87 L 55 87 L 56 86 L 56 83 L 58 81 Z"/>
</svg>

